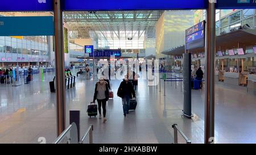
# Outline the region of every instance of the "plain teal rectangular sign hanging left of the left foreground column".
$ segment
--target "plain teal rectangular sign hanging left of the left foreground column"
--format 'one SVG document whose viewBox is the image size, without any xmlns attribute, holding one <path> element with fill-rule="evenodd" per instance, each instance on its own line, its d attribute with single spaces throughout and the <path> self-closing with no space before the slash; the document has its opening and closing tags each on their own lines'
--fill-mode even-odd
<svg viewBox="0 0 256 155">
<path fill-rule="evenodd" d="M 53 35 L 53 16 L 0 16 L 0 36 Z"/>
</svg>

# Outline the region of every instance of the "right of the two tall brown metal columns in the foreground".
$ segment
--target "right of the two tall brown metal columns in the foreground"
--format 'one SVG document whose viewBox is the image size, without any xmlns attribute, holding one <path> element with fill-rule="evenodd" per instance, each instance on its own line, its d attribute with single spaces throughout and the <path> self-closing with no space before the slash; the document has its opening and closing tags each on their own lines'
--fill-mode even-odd
<svg viewBox="0 0 256 155">
<path fill-rule="evenodd" d="M 215 57 L 215 3 L 209 1 L 209 7 L 207 9 L 207 33 L 205 44 L 205 119 L 204 119 L 204 143 L 214 142 L 214 57 Z"/>
</svg>

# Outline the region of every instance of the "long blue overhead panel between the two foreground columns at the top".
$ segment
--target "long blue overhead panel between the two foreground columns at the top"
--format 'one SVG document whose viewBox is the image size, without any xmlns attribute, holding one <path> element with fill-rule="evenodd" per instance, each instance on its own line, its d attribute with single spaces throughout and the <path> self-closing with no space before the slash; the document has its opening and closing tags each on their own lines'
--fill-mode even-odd
<svg viewBox="0 0 256 155">
<path fill-rule="evenodd" d="M 191 10 L 204 9 L 206 0 L 65 0 L 64 10 Z"/>
</svg>

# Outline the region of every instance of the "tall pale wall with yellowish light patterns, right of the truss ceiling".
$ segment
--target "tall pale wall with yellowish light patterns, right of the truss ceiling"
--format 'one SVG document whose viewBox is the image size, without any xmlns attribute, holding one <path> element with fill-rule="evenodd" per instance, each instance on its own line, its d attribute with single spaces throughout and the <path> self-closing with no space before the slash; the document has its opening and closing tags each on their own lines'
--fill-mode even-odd
<svg viewBox="0 0 256 155">
<path fill-rule="evenodd" d="M 185 44 L 185 30 L 194 25 L 193 15 L 190 10 L 164 11 L 155 24 L 156 58 L 167 57 L 161 52 Z"/>
</svg>

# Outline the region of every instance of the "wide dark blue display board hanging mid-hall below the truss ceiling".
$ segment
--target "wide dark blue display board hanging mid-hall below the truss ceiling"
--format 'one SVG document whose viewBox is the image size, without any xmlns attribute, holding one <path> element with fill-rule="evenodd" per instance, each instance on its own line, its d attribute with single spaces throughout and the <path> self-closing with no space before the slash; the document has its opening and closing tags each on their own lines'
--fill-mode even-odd
<svg viewBox="0 0 256 155">
<path fill-rule="evenodd" d="M 121 57 L 121 49 L 94 49 L 94 57 Z M 93 57 L 93 52 L 89 53 L 89 57 Z"/>
</svg>

